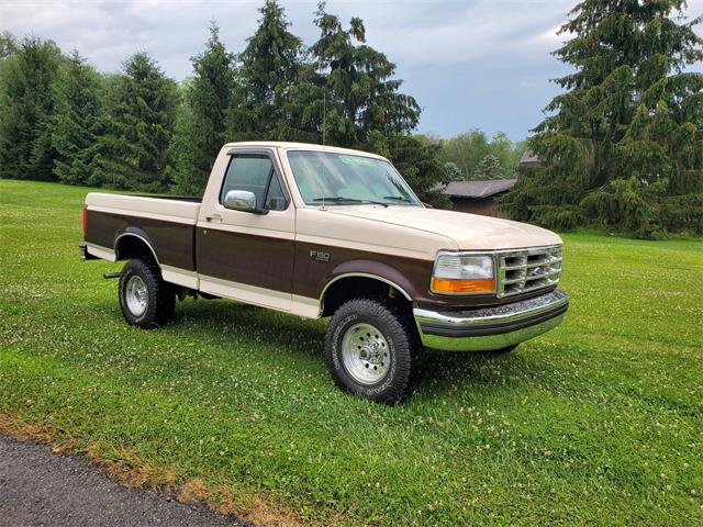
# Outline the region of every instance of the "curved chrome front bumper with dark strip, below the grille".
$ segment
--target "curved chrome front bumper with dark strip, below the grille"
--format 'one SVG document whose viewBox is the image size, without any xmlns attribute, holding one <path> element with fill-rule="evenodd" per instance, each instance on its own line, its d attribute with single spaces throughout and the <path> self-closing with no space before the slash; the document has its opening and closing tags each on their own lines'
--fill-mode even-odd
<svg viewBox="0 0 703 527">
<path fill-rule="evenodd" d="M 558 326 L 569 307 L 563 291 L 494 307 L 436 312 L 415 307 L 422 344 L 448 351 L 490 351 L 523 343 Z"/>
</svg>

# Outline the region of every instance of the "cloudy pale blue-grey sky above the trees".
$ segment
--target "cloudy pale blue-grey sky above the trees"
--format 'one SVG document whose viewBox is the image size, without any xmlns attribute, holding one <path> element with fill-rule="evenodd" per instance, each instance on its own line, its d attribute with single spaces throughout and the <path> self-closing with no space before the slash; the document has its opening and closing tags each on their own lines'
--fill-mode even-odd
<svg viewBox="0 0 703 527">
<path fill-rule="evenodd" d="M 256 29 L 263 0 L 51 1 L 0 0 L 0 31 L 54 40 L 77 48 L 103 71 L 147 51 L 177 80 L 215 19 L 221 37 L 238 52 Z M 315 0 L 281 0 L 292 32 L 305 44 L 317 36 Z M 364 19 L 367 42 L 398 65 L 403 91 L 423 108 L 420 131 L 449 137 L 472 127 L 524 138 L 558 90 L 548 79 L 567 68 L 549 55 L 576 0 L 331 0 L 344 21 Z M 689 0 L 687 14 L 703 13 Z M 699 25 L 699 32 L 701 32 Z"/>
</svg>

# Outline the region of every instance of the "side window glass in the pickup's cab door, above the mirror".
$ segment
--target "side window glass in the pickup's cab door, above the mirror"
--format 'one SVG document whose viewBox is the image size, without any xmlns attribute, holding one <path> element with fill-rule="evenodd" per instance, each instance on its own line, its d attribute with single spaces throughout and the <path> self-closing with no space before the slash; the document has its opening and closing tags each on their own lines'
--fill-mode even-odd
<svg viewBox="0 0 703 527">
<path fill-rule="evenodd" d="M 280 181 L 274 171 L 274 164 L 266 154 L 235 154 L 232 156 L 220 192 L 220 203 L 224 201 L 224 197 L 231 190 L 253 192 L 257 206 L 265 203 L 272 211 L 282 211 L 288 204 Z"/>
</svg>

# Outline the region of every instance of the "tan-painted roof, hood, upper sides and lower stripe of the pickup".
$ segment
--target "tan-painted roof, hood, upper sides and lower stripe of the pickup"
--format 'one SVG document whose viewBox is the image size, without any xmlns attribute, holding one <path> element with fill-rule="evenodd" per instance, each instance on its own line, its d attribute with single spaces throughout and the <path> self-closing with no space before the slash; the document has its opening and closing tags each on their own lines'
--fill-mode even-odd
<svg viewBox="0 0 703 527">
<path fill-rule="evenodd" d="M 292 202 L 286 211 L 257 215 L 224 209 L 219 203 L 220 189 L 233 148 L 268 150 L 278 161 L 278 170 Z M 391 205 L 306 205 L 292 176 L 287 152 L 332 152 L 386 158 L 365 152 L 320 145 L 248 142 L 222 147 L 211 172 L 202 205 L 199 203 L 144 198 L 129 194 L 89 193 L 89 210 L 164 220 L 201 228 L 295 239 L 325 247 L 343 247 L 417 260 L 434 261 L 438 250 L 498 250 L 560 244 L 556 234 L 540 227 L 423 206 Z M 212 220 L 213 216 L 217 218 Z M 208 220 L 210 218 L 210 220 Z M 158 250 L 158 248 L 156 248 Z M 88 245 L 88 251 L 114 261 L 114 250 Z M 315 318 L 319 299 L 225 281 L 170 266 L 161 266 L 164 279 L 179 285 L 255 305 Z"/>
</svg>

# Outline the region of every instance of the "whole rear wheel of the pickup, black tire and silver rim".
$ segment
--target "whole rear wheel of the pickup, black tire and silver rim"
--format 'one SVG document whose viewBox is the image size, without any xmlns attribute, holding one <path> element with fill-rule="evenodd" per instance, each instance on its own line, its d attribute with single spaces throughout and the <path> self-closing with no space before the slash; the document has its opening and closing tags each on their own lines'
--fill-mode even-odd
<svg viewBox="0 0 703 527">
<path fill-rule="evenodd" d="M 152 261 L 129 260 L 122 269 L 118 295 L 122 315 L 133 326 L 154 329 L 174 316 L 176 294 Z"/>
</svg>

